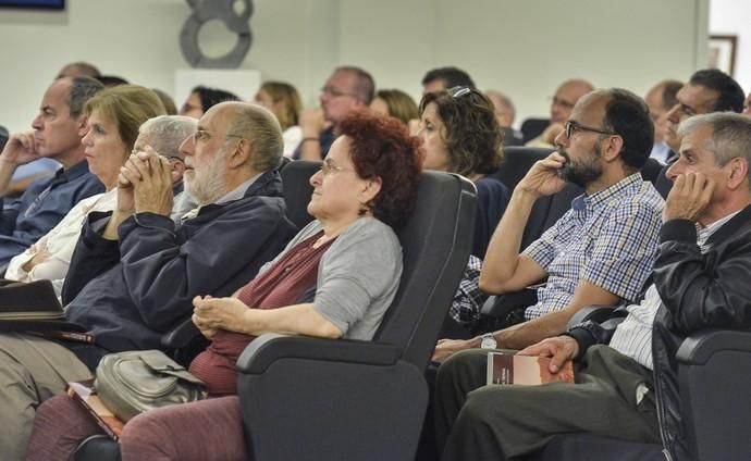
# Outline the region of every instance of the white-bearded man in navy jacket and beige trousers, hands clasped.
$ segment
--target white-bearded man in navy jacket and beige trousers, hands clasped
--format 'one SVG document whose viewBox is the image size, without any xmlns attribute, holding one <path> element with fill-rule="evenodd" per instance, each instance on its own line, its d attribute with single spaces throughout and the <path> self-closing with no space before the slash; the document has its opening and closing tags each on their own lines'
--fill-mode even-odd
<svg viewBox="0 0 751 461">
<path fill-rule="evenodd" d="M 91 213 L 84 224 L 63 300 L 77 295 L 66 317 L 96 344 L 0 335 L 8 358 L 0 362 L 5 458 L 24 458 L 35 409 L 66 382 L 90 378 L 106 353 L 159 349 L 161 335 L 189 319 L 195 296 L 230 296 L 291 237 L 275 172 L 282 132 L 271 112 L 217 104 L 181 150 L 186 186 L 200 204 L 181 225 L 169 217 L 170 163 L 151 149 L 132 154 L 121 170 L 111 215 Z"/>
</svg>

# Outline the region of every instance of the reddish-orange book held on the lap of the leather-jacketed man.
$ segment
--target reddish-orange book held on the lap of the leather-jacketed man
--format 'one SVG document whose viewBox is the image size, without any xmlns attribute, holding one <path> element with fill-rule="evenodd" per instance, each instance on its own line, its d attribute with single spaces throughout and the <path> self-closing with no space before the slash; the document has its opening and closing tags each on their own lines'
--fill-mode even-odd
<svg viewBox="0 0 751 461">
<path fill-rule="evenodd" d="M 488 353 L 488 384 L 574 383 L 574 364 L 567 361 L 558 373 L 550 372 L 550 357 L 519 356 L 512 352 Z"/>
</svg>

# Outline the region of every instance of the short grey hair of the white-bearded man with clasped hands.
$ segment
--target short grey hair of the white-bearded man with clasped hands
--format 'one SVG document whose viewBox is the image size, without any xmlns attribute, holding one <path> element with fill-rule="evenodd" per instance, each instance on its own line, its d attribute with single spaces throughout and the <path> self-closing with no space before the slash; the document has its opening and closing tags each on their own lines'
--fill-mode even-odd
<svg viewBox="0 0 751 461">
<path fill-rule="evenodd" d="M 276 116 L 257 104 L 224 103 L 235 108 L 227 134 L 242 136 L 250 141 L 250 166 L 259 173 L 275 169 L 284 151 L 282 128 Z"/>
</svg>

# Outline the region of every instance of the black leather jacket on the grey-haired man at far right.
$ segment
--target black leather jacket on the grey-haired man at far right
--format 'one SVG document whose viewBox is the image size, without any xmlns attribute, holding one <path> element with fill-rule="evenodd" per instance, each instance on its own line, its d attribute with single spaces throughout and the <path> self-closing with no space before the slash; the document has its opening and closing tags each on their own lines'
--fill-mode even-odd
<svg viewBox="0 0 751 461">
<path fill-rule="evenodd" d="M 751 207 L 717 229 L 702 254 L 693 222 L 673 220 L 660 233 L 654 284 L 663 303 L 652 332 L 657 418 L 665 449 L 674 460 L 691 459 L 681 423 L 676 352 L 692 333 L 719 327 L 751 329 Z M 606 344 L 612 329 L 587 322 L 568 332 L 579 342 L 579 357 L 593 344 Z"/>
</svg>

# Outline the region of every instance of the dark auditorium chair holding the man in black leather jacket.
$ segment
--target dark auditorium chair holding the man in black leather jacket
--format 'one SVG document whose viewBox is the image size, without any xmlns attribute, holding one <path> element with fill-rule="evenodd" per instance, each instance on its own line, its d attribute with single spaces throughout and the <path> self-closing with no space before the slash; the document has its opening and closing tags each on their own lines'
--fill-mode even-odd
<svg viewBox="0 0 751 461">
<path fill-rule="evenodd" d="M 571 319 L 577 324 L 588 315 L 599 319 L 624 310 L 582 310 Z M 599 321 L 598 319 L 594 320 Z M 608 319 L 615 328 L 617 320 Z M 706 328 L 686 338 L 676 353 L 684 439 L 692 461 L 748 460 L 751 453 L 751 332 Z M 528 461 L 665 461 L 658 444 L 641 444 L 591 434 L 561 434 Z M 673 458 L 675 460 L 675 458 Z M 680 460 L 684 461 L 684 460 Z M 686 460 L 689 461 L 689 460 Z"/>
</svg>

